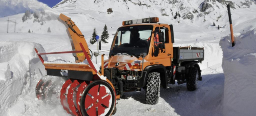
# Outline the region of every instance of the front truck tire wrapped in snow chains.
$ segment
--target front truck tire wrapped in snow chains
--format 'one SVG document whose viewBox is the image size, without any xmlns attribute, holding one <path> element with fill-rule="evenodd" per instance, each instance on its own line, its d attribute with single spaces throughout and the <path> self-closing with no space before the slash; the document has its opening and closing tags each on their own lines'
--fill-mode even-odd
<svg viewBox="0 0 256 116">
<path fill-rule="evenodd" d="M 160 96 L 160 73 L 151 72 L 148 74 L 146 85 L 146 103 L 154 105 Z"/>
</svg>

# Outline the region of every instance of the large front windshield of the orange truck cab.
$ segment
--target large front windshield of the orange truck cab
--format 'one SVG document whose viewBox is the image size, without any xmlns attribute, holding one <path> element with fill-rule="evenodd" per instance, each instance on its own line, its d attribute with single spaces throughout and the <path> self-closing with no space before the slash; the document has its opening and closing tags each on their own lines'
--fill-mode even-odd
<svg viewBox="0 0 256 116">
<path fill-rule="evenodd" d="M 118 29 L 111 55 L 134 55 L 147 53 L 153 26 L 130 26 Z"/>
</svg>

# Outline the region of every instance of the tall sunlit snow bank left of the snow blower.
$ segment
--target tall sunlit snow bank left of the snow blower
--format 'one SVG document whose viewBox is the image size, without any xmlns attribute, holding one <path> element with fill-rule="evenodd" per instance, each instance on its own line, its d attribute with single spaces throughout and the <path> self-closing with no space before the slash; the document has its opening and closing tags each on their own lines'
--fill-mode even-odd
<svg viewBox="0 0 256 116">
<path fill-rule="evenodd" d="M 38 80 L 46 75 L 34 48 L 45 52 L 38 43 L 0 42 L 0 115 L 15 104 L 20 96 L 34 91 Z M 43 58 L 47 59 L 45 56 Z"/>
</svg>

